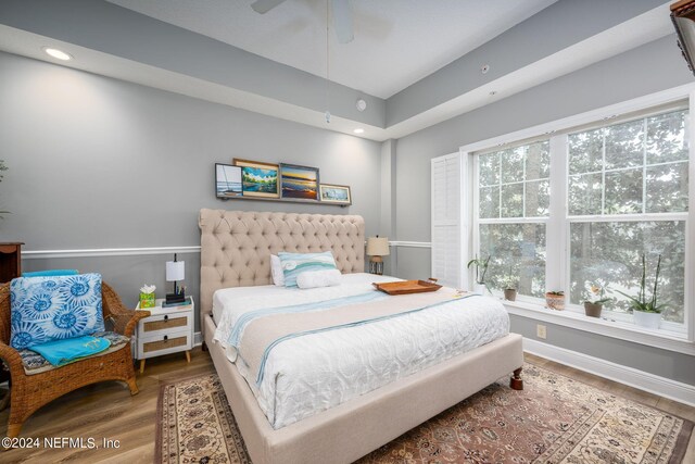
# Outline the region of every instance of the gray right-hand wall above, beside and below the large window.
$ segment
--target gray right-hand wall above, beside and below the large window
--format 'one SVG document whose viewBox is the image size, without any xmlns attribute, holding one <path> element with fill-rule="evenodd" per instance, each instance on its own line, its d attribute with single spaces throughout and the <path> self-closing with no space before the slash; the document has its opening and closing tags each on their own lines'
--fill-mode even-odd
<svg viewBox="0 0 695 464">
<path fill-rule="evenodd" d="M 458 147 L 693 81 L 671 35 L 397 140 L 399 240 L 430 241 L 430 159 Z M 429 250 L 400 248 L 395 274 L 429 276 Z M 535 337 L 535 323 L 513 317 Z M 637 343 L 548 326 L 547 342 L 641 371 L 695 384 L 695 359 Z M 643 355 L 644 354 L 644 355 Z M 668 359 L 668 363 L 660 360 Z"/>
</svg>

